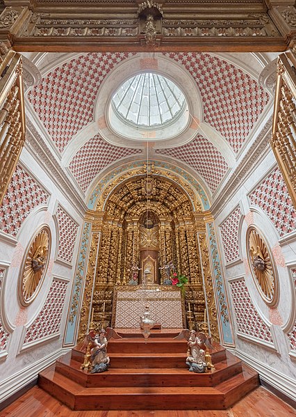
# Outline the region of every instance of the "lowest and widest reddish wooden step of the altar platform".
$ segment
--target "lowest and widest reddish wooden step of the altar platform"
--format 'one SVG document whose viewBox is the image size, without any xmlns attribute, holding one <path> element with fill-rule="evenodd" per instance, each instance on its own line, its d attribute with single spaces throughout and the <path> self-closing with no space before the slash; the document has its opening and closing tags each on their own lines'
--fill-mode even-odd
<svg viewBox="0 0 296 417">
<path fill-rule="evenodd" d="M 107 372 L 106 372 L 107 373 Z M 52 370 L 41 372 L 38 384 L 75 410 L 227 409 L 258 384 L 254 372 L 242 372 L 215 388 L 113 387 L 83 388 Z"/>
</svg>

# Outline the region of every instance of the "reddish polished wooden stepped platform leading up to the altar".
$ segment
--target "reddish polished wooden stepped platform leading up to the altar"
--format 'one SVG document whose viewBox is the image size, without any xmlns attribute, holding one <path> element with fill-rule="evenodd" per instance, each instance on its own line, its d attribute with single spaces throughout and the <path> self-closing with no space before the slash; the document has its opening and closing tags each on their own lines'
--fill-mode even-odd
<svg viewBox="0 0 296 417">
<path fill-rule="evenodd" d="M 109 341 L 107 372 L 80 370 L 83 353 L 72 349 L 40 373 L 39 386 L 75 410 L 227 409 L 258 386 L 256 372 L 217 344 L 216 370 L 189 372 L 186 340 L 173 339 L 179 329 L 152 331 L 147 343 L 140 330 L 117 331 L 129 337 Z"/>
</svg>

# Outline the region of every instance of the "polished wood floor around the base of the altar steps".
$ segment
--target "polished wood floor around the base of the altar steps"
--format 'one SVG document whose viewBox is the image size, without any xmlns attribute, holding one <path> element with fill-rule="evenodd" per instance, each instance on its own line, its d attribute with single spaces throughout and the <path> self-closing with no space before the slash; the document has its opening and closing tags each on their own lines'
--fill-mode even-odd
<svg viewBox="0 0 296 417">
<path fill-rule="evenodd" d="M 35 386 L 0 411 L 1 417 L 296 417 L 296 411 L 263 387 L 242 398 L 227 411 L 71 411 Z"/>
</svg>

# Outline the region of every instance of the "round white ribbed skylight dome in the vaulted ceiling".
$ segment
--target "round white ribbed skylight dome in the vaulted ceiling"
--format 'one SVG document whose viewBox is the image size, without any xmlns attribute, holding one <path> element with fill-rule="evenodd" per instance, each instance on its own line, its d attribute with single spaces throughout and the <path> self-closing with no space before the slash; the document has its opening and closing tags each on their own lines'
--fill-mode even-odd
<svg viewBox="0 0 296 417">
<path fill-rule="evenodd" d="M 188 102 L 171 79 L 142 72 L 117 88 L 108 120 L 114 132 L 130 139 L 171 139 L 188 127 Z"/>
</svg>

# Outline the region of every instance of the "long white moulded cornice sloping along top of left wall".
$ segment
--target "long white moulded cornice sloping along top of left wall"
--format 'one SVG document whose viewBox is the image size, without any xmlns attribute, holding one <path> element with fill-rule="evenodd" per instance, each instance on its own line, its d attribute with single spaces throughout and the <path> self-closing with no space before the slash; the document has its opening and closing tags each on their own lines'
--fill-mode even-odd
<svg viewBox="0 0 296 417">
<path fill-rule="evenodd" d="M 73 206 L 79 210 L 79 213 L 83 217 L 87 207 L 83 201 L 83 198 L 74 189 L 74 185 L 69 181 L 67 175 L 58 165 L 58 162 L 51 153 L 51 150 L 42 139 L 42 136 L 37 132 L 31 120 L 26 120 L 26 142 L 25 147 L 28 152 L 38 160 L 40 166 L 43 166 L 47 172 L 51 175 L 51 178 L 56 182 L 60 191 L 63 192 L 69 198 Z"/>
</svg>

